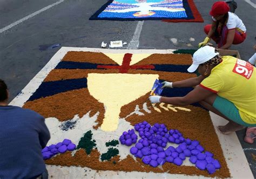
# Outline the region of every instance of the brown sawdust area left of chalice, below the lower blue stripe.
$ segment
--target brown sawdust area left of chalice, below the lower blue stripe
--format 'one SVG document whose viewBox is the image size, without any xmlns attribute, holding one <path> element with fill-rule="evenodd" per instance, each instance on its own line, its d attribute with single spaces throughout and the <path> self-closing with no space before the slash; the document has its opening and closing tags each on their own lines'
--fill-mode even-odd
<svg viewBox="0 0 256 179">
<path fill-rule="evenodd" d="M 102 125 L 105 113 L 103 103 L 93 98 L 87 88 L 29 101 L 23 108 L 36 111 L 45 118 L 55 117 L 59 121 L 72 119 L 76 114 L 81 118 L 89 111 L 91 111 L 90 116 L 93 116 L 99 111 L 96 128 Z"/>
</svg>

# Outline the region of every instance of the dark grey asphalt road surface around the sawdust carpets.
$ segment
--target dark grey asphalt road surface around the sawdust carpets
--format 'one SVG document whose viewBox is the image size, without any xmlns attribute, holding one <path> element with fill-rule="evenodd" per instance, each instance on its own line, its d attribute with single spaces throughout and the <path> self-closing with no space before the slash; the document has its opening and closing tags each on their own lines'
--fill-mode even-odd
<svg viewBox="0 0 256 179">
<path fill-rule="evenodd" d="M 41 10 L 58 0 L 0 0 L 0 29 Z M 9 86 L 10 100 L 13 99 L 29 81 L 46 65 L 59 47 L 39 51 L 45 44 L 59 43 L 69 47 L 100 48 L 102 41 L 123 40 L 128 44 L 133 38 L 138 22 L 89 20 L 107 1 L 64 0 L 52 8 L 39 13 L 22 23 L 0 33 L 0 78 Z M 203 27 L 211 23 L 208 12 L 212 0 L 194 0 L 204 23 L 166 23 L 160 20 L 146 20 L 139 37 L 140 49 L 196 49 L 205 38 Z M 247 38 L 231 49 L 238 50 L 241 59 L 248 60 L 253 55 L 256 44 L 256 9 L 244 0 L 237 0 L 235 13 L 247 28 Z M 251 1 L 255 2 L 255 0 Z M 173 44 L 172 38 L 177 39 Z M 195 41 L 189 41 L 194 38 Z M 190 43 L 191 46 L 187 46 Z M 127 48 L 125 46 L 124 48 Z M 242 140 L 245 131 L 238 137 L 245 148 L 245 154 L 256 177 L 255 145 Z M 254 148 L 251 150 L 249 148 Z"/>
</svg>

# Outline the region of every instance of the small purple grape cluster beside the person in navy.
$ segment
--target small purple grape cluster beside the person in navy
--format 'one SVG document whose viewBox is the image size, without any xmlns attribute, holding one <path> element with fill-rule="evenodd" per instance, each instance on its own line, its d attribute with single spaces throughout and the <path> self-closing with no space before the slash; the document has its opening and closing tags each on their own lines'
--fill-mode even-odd
<svg viewBox="0 0 256 179">
<path fill-rule="evenodd" d="M 58 153 L 65 153 L 66 151 L 75 150 L 76 145 L 71 142 L 69 139 L 64 139 L 62 142 L 58 142 L 57 144 L 52 144 L 50 146 L 46 146 L 42 149 L 43 159 L 50 159 L 53 155 Z"/>
</svg>

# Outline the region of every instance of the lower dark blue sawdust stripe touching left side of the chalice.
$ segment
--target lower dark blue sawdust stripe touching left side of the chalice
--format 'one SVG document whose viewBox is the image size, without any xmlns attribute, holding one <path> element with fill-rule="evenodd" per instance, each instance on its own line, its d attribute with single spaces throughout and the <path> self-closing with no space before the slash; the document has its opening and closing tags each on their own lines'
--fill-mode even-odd
<svg viewBox="0 0 256 179">
<path fill-rule="evenodd" d="M 87 88 L 87 78 L 43 82 L 28 101 L 81 88 Z"/>
</svg>

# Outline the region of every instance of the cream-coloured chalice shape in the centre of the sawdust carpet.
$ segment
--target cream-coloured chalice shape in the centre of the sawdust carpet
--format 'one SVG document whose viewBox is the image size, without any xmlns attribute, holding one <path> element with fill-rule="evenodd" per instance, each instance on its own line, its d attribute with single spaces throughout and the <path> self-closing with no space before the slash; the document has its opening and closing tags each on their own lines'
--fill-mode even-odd
<svg viewBox="0 0 256 179">
<path fill-rule="evenodd" d="M 101 130 L 117 130 L 122 106 L 149 92 L 158 77 L 157 74 L 88 74 L 90 95 L 105 107 Z"/>
</svg>

